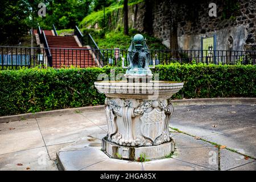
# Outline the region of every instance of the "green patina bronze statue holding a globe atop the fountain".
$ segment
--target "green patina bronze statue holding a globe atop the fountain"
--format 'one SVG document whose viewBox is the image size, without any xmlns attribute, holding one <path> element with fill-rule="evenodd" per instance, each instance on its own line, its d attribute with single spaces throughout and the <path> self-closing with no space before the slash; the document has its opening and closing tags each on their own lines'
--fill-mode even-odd
<svg viewBox="0 0 256 182">
<path fill-rule="evenodd" d="M 123 59 L 124 60 L 124 59 Z M 150 51 L 146 44 L 146 39 L 141 34 L 137 34 L 131 40 L 131 46 L 128 49 L 127 60 L 129 67 L 126 71 L 126 77 L 152 77 L 150 67 Z"/>
</svg>

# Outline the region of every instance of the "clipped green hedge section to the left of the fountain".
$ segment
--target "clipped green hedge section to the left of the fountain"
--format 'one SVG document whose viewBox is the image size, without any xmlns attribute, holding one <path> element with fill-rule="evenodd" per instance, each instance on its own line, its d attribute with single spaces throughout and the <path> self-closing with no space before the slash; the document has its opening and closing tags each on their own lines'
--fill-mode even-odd
<svg viewBox="0 0 256 182">
<path fill-rule="evenodd" d="M 104 104 L 104 95 L 93 88 L 93 81 L 105 71 L 105 68 L 1 71 L 0 115 Z"/>
</svg>

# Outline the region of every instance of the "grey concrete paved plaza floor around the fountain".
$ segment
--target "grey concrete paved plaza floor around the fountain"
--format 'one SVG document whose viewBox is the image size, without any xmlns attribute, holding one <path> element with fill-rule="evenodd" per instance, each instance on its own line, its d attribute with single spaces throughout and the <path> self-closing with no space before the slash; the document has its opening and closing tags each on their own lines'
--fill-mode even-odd
<svg viewBox="0 0 256 182">
<path fill-rule="evenodd" d="M 175 106 L 175 154 L 144 163 L 100 150 L 104 110 L 0 123 L 0 170 L 58 170 L 59 151 L 66 170 L 256 170 L 255 117 L 255 104 Z"/>
</svg>

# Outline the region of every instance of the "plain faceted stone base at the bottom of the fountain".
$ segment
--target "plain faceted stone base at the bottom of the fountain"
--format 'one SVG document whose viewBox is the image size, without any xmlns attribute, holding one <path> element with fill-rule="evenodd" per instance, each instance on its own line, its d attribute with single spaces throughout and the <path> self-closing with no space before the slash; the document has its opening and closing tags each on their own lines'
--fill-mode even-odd
<svg viewBox="0 0 256 182">
<path fill-rule="evenodd" d="M 141 156 L 146 160 L 163 159 L 175 150 L 175 142 L 160 144 L 158 146 L 126 147 L 119 146 L 105 138 L 102 138 L 102 151 L 110 158 L 138 160 Z"/>
</svg>

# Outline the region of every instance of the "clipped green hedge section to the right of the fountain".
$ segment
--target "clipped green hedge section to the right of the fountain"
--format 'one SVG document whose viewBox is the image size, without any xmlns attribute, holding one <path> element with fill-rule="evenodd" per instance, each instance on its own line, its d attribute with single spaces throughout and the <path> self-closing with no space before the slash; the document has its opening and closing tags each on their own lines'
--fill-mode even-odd
<svg viewBox="0 0 256 182">
<path fill-rule="evenodd" d="M 256 97 L 255 65 L 158 65 L 159 80 L 184 81 L 173 98 Z"/>
</svg>

